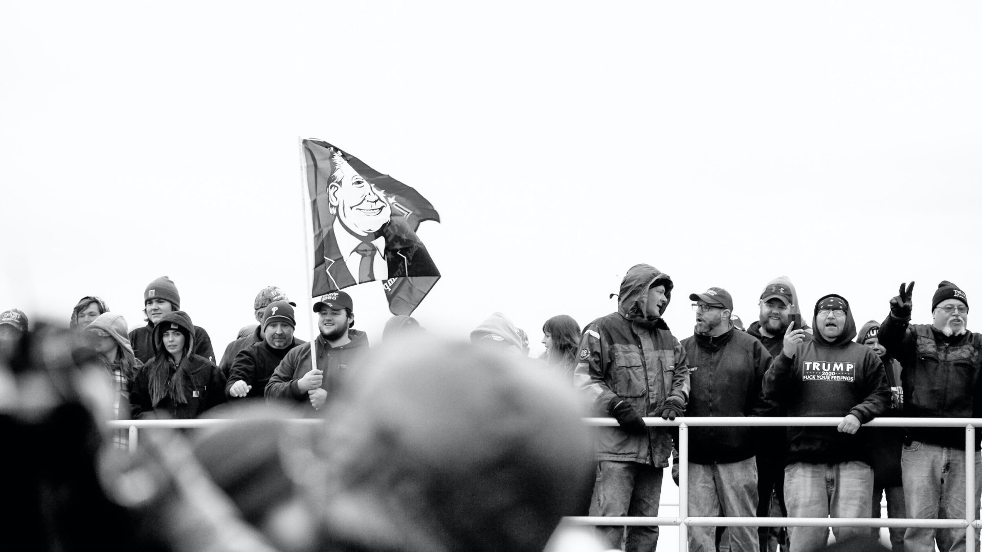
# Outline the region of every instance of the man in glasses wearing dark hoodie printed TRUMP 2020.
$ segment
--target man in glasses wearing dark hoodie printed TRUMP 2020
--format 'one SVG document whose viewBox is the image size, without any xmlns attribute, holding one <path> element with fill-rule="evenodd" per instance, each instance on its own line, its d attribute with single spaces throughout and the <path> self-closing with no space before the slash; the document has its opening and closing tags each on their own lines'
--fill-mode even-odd
<svg viewBox="0 0 982 552">
<path fill-rule="evenodd" d="M 842 417 L 838 427 L 788 428 L 785 502 L 792 518 L 869 518 L 873 469 L 860 425 L 891 401 L 883 362 L 855 343 L 849 304 L 827 295 L 815 304 L 812 341 L 789 327 L 781 355 L 764 376 L 764 396 L 789 416 Z M 828 527 L 789 527 L 791 552 L 823 548 Z M 836 541 L 869 535 L 866 527 L 834 527 Z"/>
</svg>

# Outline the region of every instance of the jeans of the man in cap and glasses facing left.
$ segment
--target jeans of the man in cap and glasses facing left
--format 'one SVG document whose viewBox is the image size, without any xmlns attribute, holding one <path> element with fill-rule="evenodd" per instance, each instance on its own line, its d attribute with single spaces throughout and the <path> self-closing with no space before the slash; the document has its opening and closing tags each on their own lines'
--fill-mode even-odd
<svg viewBox="0 0 982 552">
<path fill-rule="evenodd" d="M 757 515 L 757 461 L 731 464 L 688 463 L 688 515 L 693 518 Z M 728 527 L 729 542 L 720 547 L 732 552 L 760 552 L 757 527 Z M 715 552 L 716 527 L 689 527 L 690 552 Z"/>
</svg>

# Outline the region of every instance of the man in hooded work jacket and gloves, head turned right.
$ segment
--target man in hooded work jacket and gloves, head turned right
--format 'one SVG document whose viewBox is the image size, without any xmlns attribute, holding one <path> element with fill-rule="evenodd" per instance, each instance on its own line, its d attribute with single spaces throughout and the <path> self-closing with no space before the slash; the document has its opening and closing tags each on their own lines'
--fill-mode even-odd
<svg viewBox="0 0 982 552">
<path fill-rule="evenodd" d="M 658 516 L 662 475 L 672 453 L 668 428 L 648 427 L 643 417 L 675 419 L 688 400 L 685 350 L 662 316 L 672 299 L 672 279 L 648 264 L 635 264 L 621 282 L 617 312 L 583 328 L 573 384 L 597 415 L 619 427 L 597 431 L 597 477 L 590 516 Z M 650 552 L 658 526 L 598 528 L 611 548 Z"/>
</svg>

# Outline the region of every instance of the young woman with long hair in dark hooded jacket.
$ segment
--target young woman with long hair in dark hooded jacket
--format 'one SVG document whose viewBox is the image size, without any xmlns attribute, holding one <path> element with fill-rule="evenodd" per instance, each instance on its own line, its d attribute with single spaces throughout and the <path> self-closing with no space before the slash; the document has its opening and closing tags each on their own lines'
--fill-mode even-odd
<svg viewBox="0 0 982 552">
<path fill-rule="evenodd" d="M 191 419 L 225 401 L 218 366 L 194 355 L 194 324 L 184 310 L 164 315 L 153 326 L 154 356 L 136 375 L 130 392 L 134 419 Z"/>
</svg>

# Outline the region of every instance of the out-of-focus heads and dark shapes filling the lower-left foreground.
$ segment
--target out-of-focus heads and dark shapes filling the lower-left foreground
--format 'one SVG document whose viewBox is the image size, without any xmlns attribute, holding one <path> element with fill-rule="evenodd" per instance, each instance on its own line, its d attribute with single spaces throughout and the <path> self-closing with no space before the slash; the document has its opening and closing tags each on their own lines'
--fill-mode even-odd
<svg viewBox="0 0 982 552">
<path fill-rule="evenodd" d="M 590 470 L 548 370 L 419 336 L 352 374 L 326 423 L 249 405 L 127 454 L 80 339 L 42 326 L 0 359 L 4 549 L 538 552 Z"/>
</svg>

